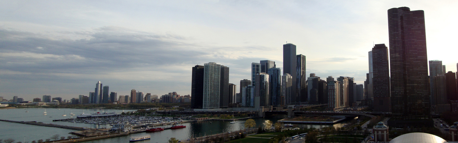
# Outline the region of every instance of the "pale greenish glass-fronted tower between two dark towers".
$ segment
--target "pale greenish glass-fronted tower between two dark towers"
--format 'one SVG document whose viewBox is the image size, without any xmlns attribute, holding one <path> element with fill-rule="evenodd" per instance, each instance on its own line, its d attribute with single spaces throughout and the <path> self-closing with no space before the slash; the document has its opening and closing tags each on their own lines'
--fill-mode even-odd
<svg viewBox="0 0 458 143">
<path fill-rule="evenodd" d="M 203 66 L 203 109 L 219 108 L 221 65 L 210 62 Z"/>
</svg>

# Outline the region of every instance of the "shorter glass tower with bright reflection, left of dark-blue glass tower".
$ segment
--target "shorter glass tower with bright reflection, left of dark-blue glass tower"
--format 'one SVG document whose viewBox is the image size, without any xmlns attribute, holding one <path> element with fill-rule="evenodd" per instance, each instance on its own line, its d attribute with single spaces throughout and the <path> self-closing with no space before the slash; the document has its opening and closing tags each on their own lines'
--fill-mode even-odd
<svg viewBox="0 0 458 143">
<path fill-rule="evenodd" d="M 269 74 L 258 73 L 256 74 L 256 85 L 255 85 L 255 98 L 259 96 L 260 106 L 270 106 L 270 84 Z M 255 103 L 256 104 L 256 103 Z"/>
</svg>

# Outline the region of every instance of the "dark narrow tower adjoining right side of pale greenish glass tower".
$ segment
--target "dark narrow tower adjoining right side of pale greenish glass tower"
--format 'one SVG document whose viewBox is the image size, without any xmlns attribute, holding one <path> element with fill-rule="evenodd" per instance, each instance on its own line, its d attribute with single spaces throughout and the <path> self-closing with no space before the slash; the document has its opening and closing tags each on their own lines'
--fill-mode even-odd
<svg viewBox="0 0 458 143">
<path fill-rule="evenodd" d="M 219 107 L 229 107 L 229 67 L 221 65 L 219 74 Z"/>
</svg>

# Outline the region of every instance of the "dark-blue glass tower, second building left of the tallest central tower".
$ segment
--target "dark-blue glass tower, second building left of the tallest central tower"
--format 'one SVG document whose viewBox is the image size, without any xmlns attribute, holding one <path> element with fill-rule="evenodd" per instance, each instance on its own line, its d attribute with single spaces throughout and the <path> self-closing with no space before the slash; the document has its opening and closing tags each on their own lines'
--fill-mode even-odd
<svg viewBox="0 0 458 143">
<path fill-rule="evenodd" d="M 267 70 L 269 74 L 269 93 L 270 105 L 274 107 L 281 106 L 282 96 L 282 74 L 280 68 L 271 68 Z"/>
</svg>

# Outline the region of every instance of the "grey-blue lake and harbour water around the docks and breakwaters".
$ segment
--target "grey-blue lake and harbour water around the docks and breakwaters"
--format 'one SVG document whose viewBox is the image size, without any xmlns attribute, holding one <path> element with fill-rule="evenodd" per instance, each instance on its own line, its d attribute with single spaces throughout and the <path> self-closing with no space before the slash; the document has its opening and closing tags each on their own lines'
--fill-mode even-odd
<svg viewBox="0 0 458 143">
<path fill-rule="evenodd" d="M 36 121 L 36 122 L 43 122 L 43 123 L 52 123 L 58 125 L 65 125 L 65 126 L 73 126 L 73 127 L 90 127 L 90 128 L 100 128 L 100 127 L 107 127 L 109 125 L 94 125 L 94 124 L 85 124 L 85 123 L 77 123 L 77 122 L 53 122 L 52 120 L 56 119 L 67 119 L 67 118 L 76 118 L 76 115 L 84 113 L 93 113 L 93 112 L 101 112 L 101 111 L 108 111 L 108 112 L 117 112 L 121 113 L 123 110 L 87 110 L 87 109 L 57 109 L 57 108 L 46 108 L 46 112 L 48 115 L 43 115 L 44 108 L 29 108 L 27 111 L 24 109 L 1 109 L 0 110 L 0 119 L 4 120 L 12 120 L 12 121 Z M 135 111 L 135 110 L 124 110 L 127 111 Z M 76 114 L 75 116 L 71 117 L 70 113 Z M 67 116 L 62 116 L 62 115 Z M 278 115 L 273 117 L 266 117 L 266 118 L 255 118 L 256 127 L 262 126 L 262 123 L 265 120 L 273 121 L 273 123 L 277 122 L 280 119 L 285 118 L 286 115 Z M 348 122 L 348 121 L 347 121 Z M 343 124 L 338 123 L 335 125 L 313 125 L 313 124 L 299 124 L 299 127 L 342 127 Z M 131 136 L 138 136 L 143 134 L 150 134 L 150 140 L 143 140 L 138 141 L 136 143 L 166 143 L 168 142 L 169 138 L 177 138 L 179 140 L 186 140 L 192 137 L 201 137 L 211 134 L 217 134 L 222 132 L 234 132 L 245 129 L 245 120 L 236 121 L 236 123 L 229 123 L 228 121 L 204 121 L 204 122 L 187 122 L 181 125 L 186 126 L 185 128 L 181 129 L 174 129 L 174 130 L 164 130 L 161 132 L 140 132 L 135 134 L 129 134 L 127 136 L 121 137 L 114 137 L 114 138 L 105 138 L 105 139 L 98 139 L 92 141 L 85 141 L 82 143 L 128 143 L 129 137 Z M 166 126 L 156 126 L 156 127 L 170 127 L 171 125 Z M 33 140 L 51 138 L 51 136 L 55 134 L 59 134 L 60 136 L 67 137 L 71 136 L 69 132 L 73 132 L 74 130 L 70 129 L 62 129 L 57 127 L 44 127 L 44 126 L 35 126 L 35 125 L 27 125 L 27 124 L 20 124 L 20 123 L 12 123 L 12 122 L 0 122 L 0 127 L 2 127 L 0 133 L 0 139 L 7 139 L 13 138 L 16 142 L 25 141 L 32 142 Z"/>
</svg>

